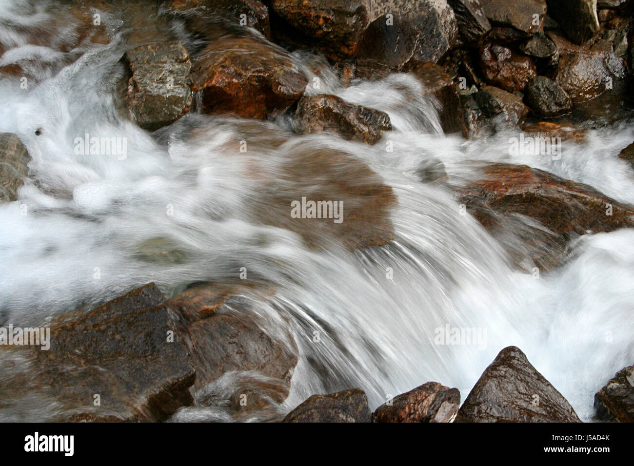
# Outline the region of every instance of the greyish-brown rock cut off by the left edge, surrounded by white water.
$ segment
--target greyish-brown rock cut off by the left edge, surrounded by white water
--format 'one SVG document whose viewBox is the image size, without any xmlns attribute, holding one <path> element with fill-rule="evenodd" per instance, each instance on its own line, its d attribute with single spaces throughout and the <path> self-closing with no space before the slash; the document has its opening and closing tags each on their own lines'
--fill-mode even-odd
<svg viewBox="0 0 634 466">
<path fill-rule="evenodd" d="M 0 133 L 0 202 L 17 199 L 17 191 L 29 172 L 30 157 L 20 138 Z"/>
</svg>

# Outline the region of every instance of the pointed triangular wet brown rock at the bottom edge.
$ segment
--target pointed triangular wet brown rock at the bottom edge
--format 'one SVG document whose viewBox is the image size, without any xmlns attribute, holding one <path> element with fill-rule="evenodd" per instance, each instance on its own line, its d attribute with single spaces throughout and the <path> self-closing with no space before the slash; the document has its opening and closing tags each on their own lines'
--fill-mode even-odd
<svg viewBox="0 0 634 466">
<path fill-rule="evenodd" d="M 581 422 L 573 407 L 514 346 L 500 351 L 460 408 L 457 422 Z"/>
</svg>

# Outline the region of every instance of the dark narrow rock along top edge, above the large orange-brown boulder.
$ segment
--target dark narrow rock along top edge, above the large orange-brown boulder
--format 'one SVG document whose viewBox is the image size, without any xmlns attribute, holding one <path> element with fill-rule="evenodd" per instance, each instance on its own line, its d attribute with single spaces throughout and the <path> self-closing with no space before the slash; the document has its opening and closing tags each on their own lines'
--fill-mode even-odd
<svg viewBox="0 0 634 466">
<path fill-rule="evenodd" d="M 267 39 L 271 38 L 269 10 L 259 0 L 172 0 L 165 8 L 173 11 L 192 8 L 209 11 L 223 20 L 252 27 Z"/>
</svg>

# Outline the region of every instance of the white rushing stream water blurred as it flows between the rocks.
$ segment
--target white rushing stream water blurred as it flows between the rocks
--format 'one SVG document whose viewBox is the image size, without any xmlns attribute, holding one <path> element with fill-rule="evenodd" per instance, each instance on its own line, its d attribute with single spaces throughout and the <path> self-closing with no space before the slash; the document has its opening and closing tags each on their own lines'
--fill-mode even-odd
<svg viewBox="0 0 634 466">
<path fill-rule="evenodd" d="M 477 176 L 471 160 L 522 163 L 634 204 L 634 172 L 616 157 L 634 139 L 631 126 L 567 142 L 560 160 L 511 156 L 511 133 L 481 141 L 442 134 L 437 103 L 420 98 L 411 76 L 344 89 L 324 70 L 320 92 L 389 113 L 394 130 L 383 141 L 368 146 L 297 136 L 284 117 L 254 124 L 195 113 L 150 135 L 122 119 L 112 98 L 129 40 L 125 30 L 113 29 L 112 45 L 75 44 L 62 52 L 60 44 L 75 34 L 63 26 L 68 13 L 30 5 L 0 1 L 0 42 L 9 49 L 0 61 L 22 63 L 34 76 L 27 89 L 18 77 L 0 81 L 0 131 L 18 134 L 32 157 L 18 202 L 0 205 L 2 323 L 42 323 L 148 282 L 170 295 L 186 283 L 235 278 L 245 267 L 276 287 L 269 301 L 250 309 L 280 339 L 290 328 L 299 346 L 281 410 L 349 387 L 365 390 L 375 408 L 429 380 L 458 387 L 464 398 L 498 351 L 512 344 L 588 420 L 595 391 L 632 363 L 634 231 L 586 235 L 573 260 L 536 279 L 513 268 L 496 238 L 460 215 L 444 184 L 423 183 L 418 175 L 420 167 L 441 161 L 449 183 L 460 184 Z M 47 27 L 50 40 L 32 45 L 25 30 Z M 307 73 L 319 62 L 302 53 L 294 60 Z M 85 133 L 126 138 L 126 158 L 76 155 L 74 140 Z M 238 158 L 235 144 L 245 134 L 250 149 Z M 394 190 L 396 236 L 387 246 L 353 253 L 332 242 L 308 249 L 297 234 L 257 221 L 254 210 L 269 182 L 294 188 L 294 179 L 281 177 L 288 160 L 323 148 L 364 160 Z M 155 238 L 169 242 L 179 259 L 139 256 L 139 245 Z M 474 328 L 482 339 L 435 344 L 436 330 L 446 326 Z M 236 383 L 231 377 L 197 398 L 223 396 Z M 0 419 L 11 416 L 0 410 Z M 174 419 L 230 417 L 197 406 Z"/>
</svg>

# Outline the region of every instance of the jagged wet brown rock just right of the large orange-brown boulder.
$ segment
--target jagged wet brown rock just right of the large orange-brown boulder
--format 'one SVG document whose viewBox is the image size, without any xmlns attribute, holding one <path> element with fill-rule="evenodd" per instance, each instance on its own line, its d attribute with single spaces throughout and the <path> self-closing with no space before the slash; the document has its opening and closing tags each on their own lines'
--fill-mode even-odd
<svg viewBox="0 0 634 466">
<path fill-rule="evenodd" d="M 392 129 L 387 113 L 327 94 L 302 97 L 297 103 L 293 126 L 299 134 L 327 131 L 367 144 L 377 143 L 383 131 Z"/>
</svg>

